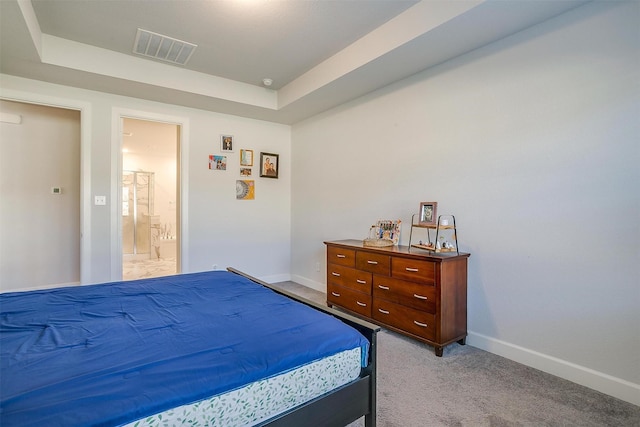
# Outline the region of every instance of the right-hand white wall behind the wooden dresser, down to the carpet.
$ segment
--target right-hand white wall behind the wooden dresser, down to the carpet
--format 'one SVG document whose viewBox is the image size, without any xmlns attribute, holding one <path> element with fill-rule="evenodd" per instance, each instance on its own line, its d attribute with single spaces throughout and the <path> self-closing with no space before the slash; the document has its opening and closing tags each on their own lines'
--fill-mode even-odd
<svg viewBox="0 0 640 427">
<path fill-rule="evenodd" d="M 583 6 L 294 125 L 293 279 L 323 288 L 324 240 L 437 201 L 471 253 L 469 343 L 640 404 L 639 8 Z"/>
</svg>

